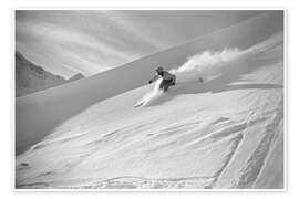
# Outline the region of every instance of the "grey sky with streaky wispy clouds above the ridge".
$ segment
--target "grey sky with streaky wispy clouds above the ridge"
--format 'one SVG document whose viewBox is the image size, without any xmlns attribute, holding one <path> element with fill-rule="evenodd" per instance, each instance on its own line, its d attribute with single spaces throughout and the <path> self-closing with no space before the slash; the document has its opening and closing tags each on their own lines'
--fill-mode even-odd
<svg viewBox="0 0 299 199">
<path fill-rule="evenodd" d="M 16 50 L 69 78 L 91 76 L 262 11 L 17 10 Z"/>
</svg>

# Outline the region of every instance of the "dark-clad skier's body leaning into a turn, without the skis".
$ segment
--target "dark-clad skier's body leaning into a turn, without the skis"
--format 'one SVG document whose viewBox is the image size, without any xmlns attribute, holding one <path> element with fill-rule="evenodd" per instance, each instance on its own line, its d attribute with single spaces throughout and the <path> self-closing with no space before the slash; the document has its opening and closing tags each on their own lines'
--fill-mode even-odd
<svg viewBox="0 0 299 199">
<path fill-rule="evenodd" d="M 157 78 L 162 77 L 162 82 L 159 84 L 159 88 L 163 90 L 164 92 L 166 92 L 168 90 L 169 86 L 175 85 L 175 75 L 171 74 L 167 71 L 164 71 L 163 67 L 157 67 L 156 69 L 156 74 L 155 76 L 148 81 L 148 83 L 153 83 L 155 82 Z"/>
</svg>

